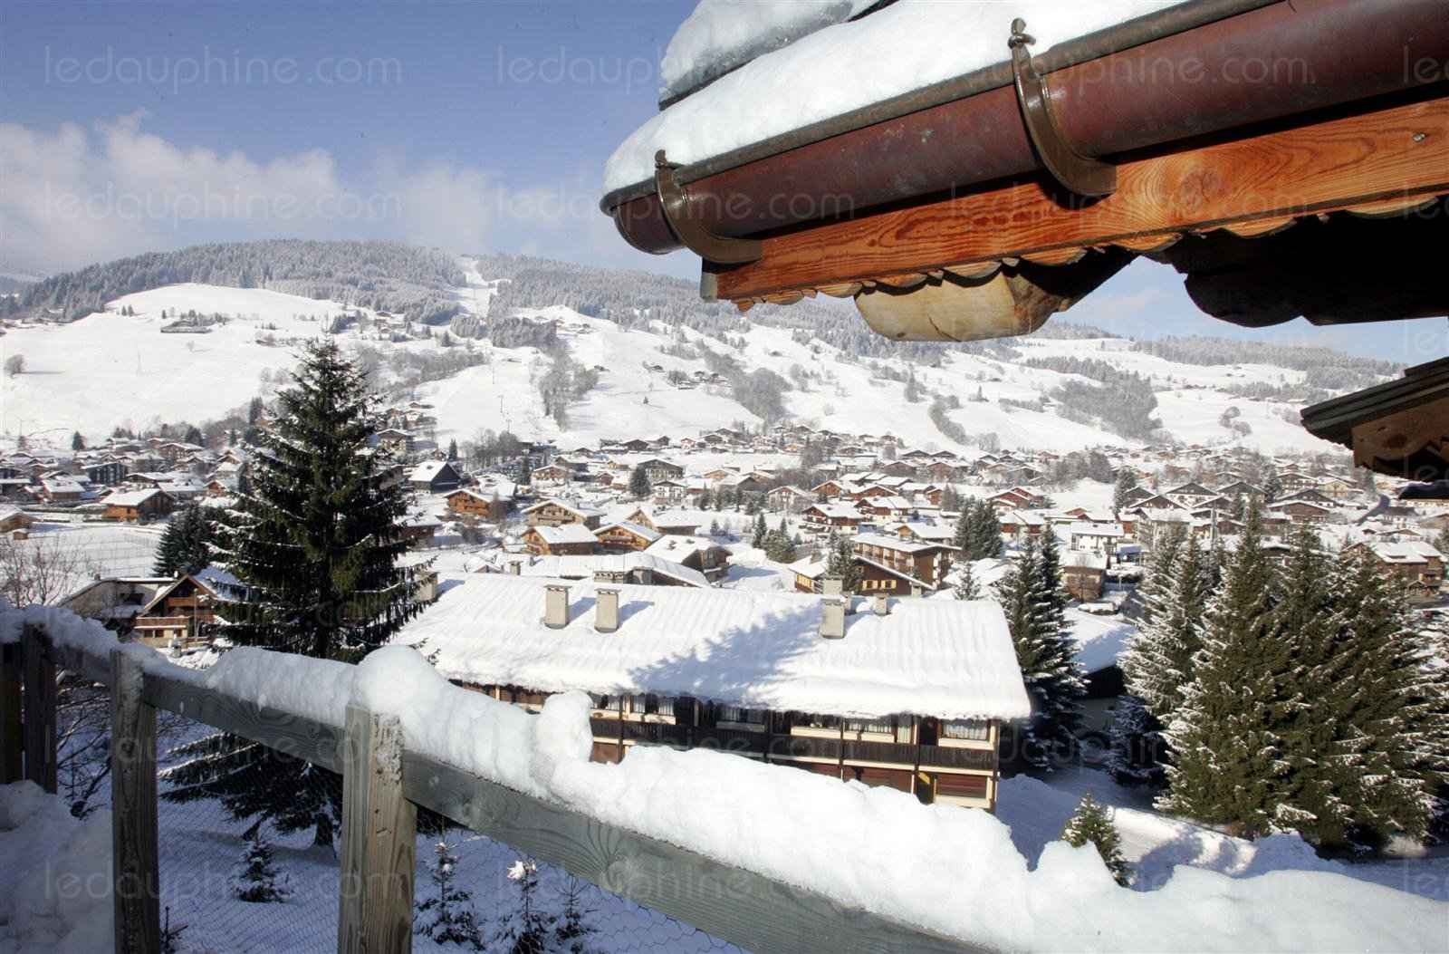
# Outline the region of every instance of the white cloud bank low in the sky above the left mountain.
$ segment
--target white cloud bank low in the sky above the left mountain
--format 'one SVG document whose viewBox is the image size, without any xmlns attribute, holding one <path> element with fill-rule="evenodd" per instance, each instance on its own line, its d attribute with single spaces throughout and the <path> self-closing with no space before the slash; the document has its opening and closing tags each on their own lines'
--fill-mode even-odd
<svg viewBox="0 0 1449 954">
<path fill-rule="evenodd" d="M 597 178 L 514 186 L 445 159 L 380 157 L 345 180 L 326 149 L 268 161 L 168 141 L 146 113 L 91 129 L 0 123 L 0 270 L 61 271 L 142 251 L 262 236 L 396 238 L 688 274 L 643 258 L 596 207 Z"/>
</svg>

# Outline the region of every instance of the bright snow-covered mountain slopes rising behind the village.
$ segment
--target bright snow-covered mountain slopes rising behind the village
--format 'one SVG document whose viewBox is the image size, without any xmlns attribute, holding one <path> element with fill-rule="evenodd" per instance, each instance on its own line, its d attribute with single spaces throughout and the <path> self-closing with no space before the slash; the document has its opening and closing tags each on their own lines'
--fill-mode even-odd
<svg viewBox="0 0 1449 954">
<path fill-rule="evenodd" d="M 456 300 L 480 320 L 497 320 L 503 316 L 490 315 L 490 303 L 507 280 L 490 280 L 477 264 L 477 260 L 462 261 L 467 284 L 455 290 Z M 162 331 L 191 310 L 203 316 L 219 313 L 229 320 L 212 325 L 206 333 Z M 400 352 L 414 352 L 413 358 L 423 361 L 445 352 L 436 339 L 440 328 L 414 325 L 419 336 L 394 341 L 384 333 L 385 316 L 377 322 L 375 313 L 338 302 L 262 289 L 167 286 L 116 299 L 106 312 L 68 325 L 7 328 L 0 336 L 0 351 L 4 357 L 23 355 L 25 373 L 0 383 L 0 431 L 12 438 L 68 436 L 71 431 L 94 438 L 125 423 L 220 418 L 265 390 L 264 378 L 294 362 L 293 345 L 323 333 L 343 312 L 365 316 L 361 326 L 352 323 L 338 335 L 351 348 L 381 355 L 383 381 L 396 380 L 388 358 Z M 782 326 L 755 325 L 726 342 L 658 320 L 626 329 L 564 306 L 511 309 L 511 315 L 554 322 L 567 354 L 578 365 L 598 371 L 597 386 L 569 405 L 567 422 L 559 426 L 545 413 L 536 386 L 549 355 L 535 347 L 497 347 L 485 338 L 464 342 L 477 364 L 419 384 L 414 391 L 436 407 L 440 442 L 464 441 L 485 428 L 578 444 L 638 435 L 684 436 L 732 422 L 758 422 L 736 400 L 730 384 L 696 380 L 711 370 L 701 352 L 709 348 L 733 358 L 743 374 L 764 368 L 791 381 L 782 403 L 793 419 L 845 432 L 893 432 L 927 449 L 964 448 L 964 442 L 942 431 L 940 415 L 961 429 L 956 436 L 964 434 L 965 442 L 977 445 L 984 441 L 1003 448 L 1072 451 L 1132 444 L 1101 422 L 1082 422 L 1081 415 L 1069 419 L 1055 402 L 1039 406 L 1042 397 L 1075 376 L 1029 364 L 1065 358 L 1091 358 L 1145 376 L 1158 399 L 1155 413 L 1177 441 L 1239 442 L 1269 452 L 1327 449 L 1293 420 L 1297 407 L 1279 400 L 1246 400 L 1229 390 L 1298 384 L 1304 378 L 1301 371 L 1179 364 L 1137 351 L 1133 342 L 1120 338 L 1023 338 L 1011 342 L 1017 351 L 1007 352 L 1009 358 L 948 348 L 935 365 L 909 365 L 901 358 L 843 355 Z M 840 320 L 858 319 L 842 312 Z M 458 342 L 456 336 L 452 341 Z M 455 349 L 459 347 L 454 344 Z M 914 389 L 907 384 L 910 374 Z M 688 386 L 678 386 L 681 376 L 691 378 Z M 1095 386 L 1088 378 L 1077 380 Z M 917 393 L 917 402 L 907 400 L 910 390 Z M 935 420 L 933 402 L 939 403 Z M 1230 407 L 1237 409 L 1237 431 L 1223 420 Z M 1246 432 L 1240 425 L 1248 425 Z"/>
</svg>

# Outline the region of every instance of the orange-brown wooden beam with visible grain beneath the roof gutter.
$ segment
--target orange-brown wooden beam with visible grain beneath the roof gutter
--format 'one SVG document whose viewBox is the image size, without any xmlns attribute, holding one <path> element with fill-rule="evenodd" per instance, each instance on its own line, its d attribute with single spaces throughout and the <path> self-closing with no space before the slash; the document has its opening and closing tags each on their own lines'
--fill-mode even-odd
<svg viewBox="0 0 1449 954">
<path fill-rule="evenodd" d="M 1117 171 L 1117 191 L 1095 202 L 1064 200 L 1042 178 L 1013 181 L 769 236 L 759 261 L 707 270 L 716 297 L 745 302 L 1009 257 L 1143 251 L 1184 232 L 1255 232 L 1430 199 L 1449 191 L 1449 97 L 1135 158 Z"/>
</svg>

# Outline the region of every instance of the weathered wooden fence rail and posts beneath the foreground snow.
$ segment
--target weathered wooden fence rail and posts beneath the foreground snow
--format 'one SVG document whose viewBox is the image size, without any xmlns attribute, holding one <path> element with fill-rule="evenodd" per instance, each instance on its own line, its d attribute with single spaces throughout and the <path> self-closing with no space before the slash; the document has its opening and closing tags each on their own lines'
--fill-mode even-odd
<svg viewBox="0 0 1449 954">
<path fill-rule="evenodd" d="M 39 771 L 49 766 L 49 790 L 55 790 L 57 665 L 112 689 L 117 954 L 159 951 L 158 709 L 342 774 L 338 950 L 345 954 L 412 950 L 417 808 L 432 809 L 607 892 L 752 951 L 959 954 L 985 950 L 843 908 L 822 895 L 481 779 L 407 750 L 396 719 L 356 706 L 348 708 L 345 725 L 329 725 L 207 689 L 181 670 L 143 668 L 123 651 L 99 658 L 55 648 L 43 632 L 30 628 L 20 647 L 12 644 L 4 650 L 0 657 L 0 771 L 7 781 L 13 780 L 9 773 L 20 751 L 26 755 L 25 777 L 35 777 L 30 745 L 43 745 L 48 739 L 49 752 L 38 757 L 36 766 Z M 32 655 L 43 664 L 29 663 Z M 25 679 L 17 671 L 23 671 Z M 48 683 L 48 693 L 32 689 L 32 679 Z M 26 703 L 20 725 L 12 718 L 17 689 Z M 32 697 L 39 709 L 29 708 Z M 30 728 L 32 719 L 41 723 L 39 729 Z M 861 863 L 871 861 L 862 858 Z"/>
</svg>

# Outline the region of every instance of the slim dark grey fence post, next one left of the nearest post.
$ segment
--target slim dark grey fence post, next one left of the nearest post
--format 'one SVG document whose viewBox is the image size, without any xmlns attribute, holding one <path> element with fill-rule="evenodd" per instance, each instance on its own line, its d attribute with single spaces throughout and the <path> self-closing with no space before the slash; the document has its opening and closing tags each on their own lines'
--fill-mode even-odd
<svg viewBox="0 0 1449 954">
<path fill-rule="evenodd" d="M 116 954 L 161 950 L 156 857 L 156 710 L 142 697 L 141 663 L 110 651 L 110 848 Z"/>
</svg>

